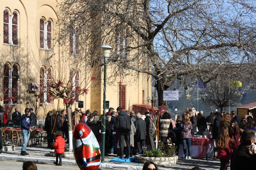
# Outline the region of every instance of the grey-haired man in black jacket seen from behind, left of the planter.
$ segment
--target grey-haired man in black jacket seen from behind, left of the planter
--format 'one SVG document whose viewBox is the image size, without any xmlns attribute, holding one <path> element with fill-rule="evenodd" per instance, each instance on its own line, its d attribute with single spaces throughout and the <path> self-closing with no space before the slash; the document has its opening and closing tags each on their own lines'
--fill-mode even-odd
<svg viewBox="0 0 256 170">
<path fill-rule="evenodd" d="M 135 140 L 137 146 L 137 152 L 140 152 L 142 146 L 146 146 L 146 122 L 142 119 L 142 115 L 140 113 L 136 114 L 137 120 L 134 122 L 134 126 L 136 128 Z"/>
</svg>

